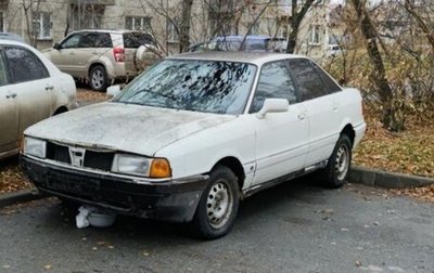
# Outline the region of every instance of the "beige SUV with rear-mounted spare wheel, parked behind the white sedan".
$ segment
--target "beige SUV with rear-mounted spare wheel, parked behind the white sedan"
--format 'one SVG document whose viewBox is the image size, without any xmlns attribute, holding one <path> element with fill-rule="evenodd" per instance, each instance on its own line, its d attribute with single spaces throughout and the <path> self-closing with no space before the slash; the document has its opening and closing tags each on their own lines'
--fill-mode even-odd
<svg viewBox="0 0 434 273">
<path fill-rule="evenodd" d="M 149 51 L 159 52 L 150 34 L 85 29 L 69 34 L 43 53 L 62 72 L 85 79 L 93 90 L 103 91 L 116 79 L 128 80 L 140 74 L 146 63 L 142 55 Z M 155 60 L 157 55 L 154 56 Z"/>
</svg>

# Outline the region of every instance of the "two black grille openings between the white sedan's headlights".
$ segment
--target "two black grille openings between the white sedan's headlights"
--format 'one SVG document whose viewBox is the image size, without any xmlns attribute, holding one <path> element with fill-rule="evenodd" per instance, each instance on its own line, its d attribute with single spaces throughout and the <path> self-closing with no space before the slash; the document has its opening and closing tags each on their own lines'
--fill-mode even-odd
<svg viewBox="0 0 434 273">
<path fill-rule="evenodd" d="M 113 152 L 94 152 L 87 150 L 85 153 L 84 167 L 110 171 L 112 169 Z M 47 158 L 54 161 L 71 164 L 69 147 L 53 142 L 47 143 Z"/>
</svg>

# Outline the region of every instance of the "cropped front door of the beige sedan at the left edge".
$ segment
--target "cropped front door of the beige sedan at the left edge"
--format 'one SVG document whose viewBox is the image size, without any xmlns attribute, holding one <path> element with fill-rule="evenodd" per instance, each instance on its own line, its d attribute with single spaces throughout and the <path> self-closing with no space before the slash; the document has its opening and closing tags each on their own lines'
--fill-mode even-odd
<svg viewBox="0 0 434 273">
<path fill-rule="evenodd" d="M 0 54 L 0 157 L 17 147 L 18 103 L 16 93 L 8 84 L 8 72 L 3 54 Z"/>
</svg>

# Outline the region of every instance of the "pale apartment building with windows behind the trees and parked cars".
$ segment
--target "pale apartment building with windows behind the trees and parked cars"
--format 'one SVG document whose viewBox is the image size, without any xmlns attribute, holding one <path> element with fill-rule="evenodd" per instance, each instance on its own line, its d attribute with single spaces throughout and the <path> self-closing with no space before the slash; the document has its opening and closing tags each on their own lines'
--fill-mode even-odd
<svg viewBox="0 0 434 273">
<path fill-rule="evenodd" d="M 0 30 L 15 32 L 38 49 L 76 29 L 140 29 L 177 52 L 182 0 L 0 0 Z M 290 0 L 193 0 L 191 43 L 221 35 L 288 37 Z M 297 52 L 320 56 L 328 49 L 330 6 L 314 6 L 297 37 Z"/>
</svg>

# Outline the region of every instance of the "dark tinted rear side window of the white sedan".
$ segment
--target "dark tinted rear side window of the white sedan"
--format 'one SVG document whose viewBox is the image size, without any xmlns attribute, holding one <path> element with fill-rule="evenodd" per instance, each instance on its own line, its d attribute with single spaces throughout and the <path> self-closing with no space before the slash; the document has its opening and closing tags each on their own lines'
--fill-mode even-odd
<svg viewBox="0 0 434 273">
<path fill-rule="evenodd" d="M 328 94 L 324 83 L 309 60 L 297 58 L 288 62 L 298 83 L 302 101 Z"/>
</svg>

